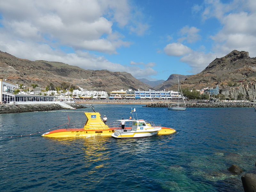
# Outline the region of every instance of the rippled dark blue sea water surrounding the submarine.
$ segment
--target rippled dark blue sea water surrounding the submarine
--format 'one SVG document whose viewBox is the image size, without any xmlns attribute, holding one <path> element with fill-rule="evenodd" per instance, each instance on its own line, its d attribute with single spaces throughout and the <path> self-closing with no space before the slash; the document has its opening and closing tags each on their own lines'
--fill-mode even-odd
<svg viewBox="0 0 256 192">
<path fill-rule="evenodd" d="M 67 123 L 67 116 L 85 123 L 84 113 L 1 114 L 0 191 L 242 192 L 241 176 L 256 173 L 254 108 L 94 107 L 108 121 L 129 118 L 136 108 L 139 119 L 177 132 L 140 139 L 52 139 L 41 134 Z M 232 164 L 244 172 L 230 173 Z"/>
</svg>

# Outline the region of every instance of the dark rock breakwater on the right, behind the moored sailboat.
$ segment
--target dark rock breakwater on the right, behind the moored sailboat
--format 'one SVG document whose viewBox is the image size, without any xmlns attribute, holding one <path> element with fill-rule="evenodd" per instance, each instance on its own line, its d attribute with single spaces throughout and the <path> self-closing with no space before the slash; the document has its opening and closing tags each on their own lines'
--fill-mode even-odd
<svg viewBox="0 0 256 192">
<path fill-rule="evenodd" d="M 144 107 L 168 107 L 167 103 L 150 103 Z M 230 108 L 230 107 L 254 107 L 254 102 L 209 102 L 209 103 L 186 103 L 187 108 Z M 180 103 L 180 107 L 185 107 Z"/>
</svg>

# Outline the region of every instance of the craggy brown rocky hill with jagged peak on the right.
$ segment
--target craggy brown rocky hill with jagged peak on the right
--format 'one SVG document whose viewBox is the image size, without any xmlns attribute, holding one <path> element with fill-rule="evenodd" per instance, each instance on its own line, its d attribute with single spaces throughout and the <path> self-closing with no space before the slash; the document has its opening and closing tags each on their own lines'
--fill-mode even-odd
<svg viewBox="0 0 256 192">
<path fill-rule="evenodd" d="M 182 88 L 201 90 L 219 85 L 226 98 L 256 99 L 256 58 L 245 51 L 232 51 L 213 60 L 201 73 L 181 82 Z M 177 86 L 167 89 L 175 90 Z"/>
</svg>

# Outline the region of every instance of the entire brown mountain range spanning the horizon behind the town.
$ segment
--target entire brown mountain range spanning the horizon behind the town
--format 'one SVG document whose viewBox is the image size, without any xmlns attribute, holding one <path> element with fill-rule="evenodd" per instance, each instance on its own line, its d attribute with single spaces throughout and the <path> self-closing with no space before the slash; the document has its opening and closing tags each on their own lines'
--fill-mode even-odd
<svg viewBox="0 0 256 192">
<path fill-rule="evenodd" d="M 216 58 L 196 75 L 171 74 L 166 81 L 139 80 L 127 72 L 86 70 L 61 62 L 30 61 L 0 52 L 0 78 L 27 86 L 38 84 L 44 87 L 50 83 L 60 86 L 66 82 L 87 90 L 107 92 L 120 89 L 175 91 L 177 76 L 182 88 L 200 90 L 218 85 L 220 92 L 227 98 L 256 98 L 256 58 L 250 58 L 245 51 L 234 50 L 224 57 Z"/>
</svg>

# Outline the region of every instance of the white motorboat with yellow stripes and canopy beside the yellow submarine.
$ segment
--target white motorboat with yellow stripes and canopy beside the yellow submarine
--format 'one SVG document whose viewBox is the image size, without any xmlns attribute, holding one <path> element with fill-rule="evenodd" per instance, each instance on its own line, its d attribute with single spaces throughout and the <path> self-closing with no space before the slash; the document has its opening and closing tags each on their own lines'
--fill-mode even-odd
<svg viewBox="0 0 256 192">
<path fill-rule="evenodd" d="M 147 124 L 144 120 L 123 119 L 117 121 L 132 122 L 132 127 L 130 129 L 114 130 L 111 136 L 116 139 L 149 137 L 156 135 L 162 129 L 161 125 Z"/>
</svg>

